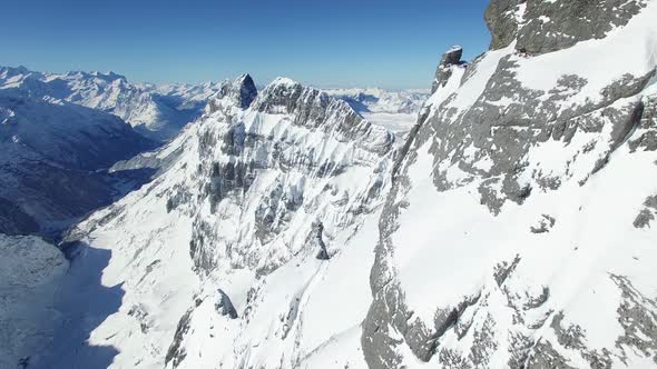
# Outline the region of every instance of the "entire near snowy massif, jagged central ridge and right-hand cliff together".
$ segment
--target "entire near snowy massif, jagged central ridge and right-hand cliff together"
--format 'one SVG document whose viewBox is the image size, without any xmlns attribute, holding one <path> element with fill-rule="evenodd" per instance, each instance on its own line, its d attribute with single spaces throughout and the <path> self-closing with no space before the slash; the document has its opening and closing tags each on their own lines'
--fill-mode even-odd
<svg viewBox="0 0 657 369">
<path fill-rule="evenodd" d="M 117 164 L 159 174 L 67 235 L 59 328 L 12 352 L 657 366 L 655 19 L 657 0 L 492 0 L 491 49 L 445 53 L 401 146 L 320 90 L 222 83 L 175 140 Z"/>
</svg>

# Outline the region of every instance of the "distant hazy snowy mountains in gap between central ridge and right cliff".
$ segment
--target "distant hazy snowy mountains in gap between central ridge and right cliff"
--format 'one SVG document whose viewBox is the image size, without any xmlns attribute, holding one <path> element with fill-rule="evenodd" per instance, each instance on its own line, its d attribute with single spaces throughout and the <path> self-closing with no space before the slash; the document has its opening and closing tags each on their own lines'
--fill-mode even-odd
<svg viewBox="0 0 657 369">
<path fill-rule="evenodd" d="M 382 89 L 325 90 L 346 101 L 355 111 L 375 124 L 383 126 L 401 137 L 408 133 L 429 97 L 429 91 Z"/>
</svg>

